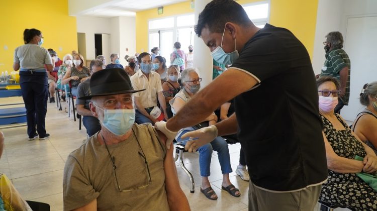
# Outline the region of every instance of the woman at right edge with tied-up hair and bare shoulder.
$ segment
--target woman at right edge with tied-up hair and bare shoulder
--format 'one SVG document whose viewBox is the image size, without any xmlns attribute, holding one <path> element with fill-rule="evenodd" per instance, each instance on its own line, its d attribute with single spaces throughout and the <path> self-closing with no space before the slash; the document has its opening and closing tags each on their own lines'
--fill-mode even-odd
<svg viewBox="0 0 377 211">
<path fill-rule="evenodd" d="M 366 108 L 357 115 L 352 131 L 377 155 L 377 81 L 364 84 L 360 103 Z"/>
</svg>

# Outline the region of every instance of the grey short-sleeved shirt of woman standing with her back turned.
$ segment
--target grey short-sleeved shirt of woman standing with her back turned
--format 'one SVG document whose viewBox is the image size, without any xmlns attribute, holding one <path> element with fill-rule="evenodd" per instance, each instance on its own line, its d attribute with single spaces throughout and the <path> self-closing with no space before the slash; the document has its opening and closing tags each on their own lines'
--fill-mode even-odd
<svg viewBox="0 0 377 211">
<path fill-rule="evenodd" d="M 15 50 L 14 62 L 21 68 L 45 69 L 45 64 L 52 64 L 48 51 L 37 44 L 25 44 Z"/>
</svg>

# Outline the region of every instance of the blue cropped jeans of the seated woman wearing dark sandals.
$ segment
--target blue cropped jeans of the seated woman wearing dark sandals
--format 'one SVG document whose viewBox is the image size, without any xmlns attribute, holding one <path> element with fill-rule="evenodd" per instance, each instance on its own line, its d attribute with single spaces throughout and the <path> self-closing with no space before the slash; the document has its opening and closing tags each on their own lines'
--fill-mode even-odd
<svg viewBox="0 0 377 211">
<path fill-rule="evenodd" d="M 190 131 L 193 131 L 193 130 L 184 130 L 178 136 L 177 141 L 178 142 L 181 141 L 180 137 L 183 136 L 183 134 Z M 183 143 L 183 145 L 184 144 L 185 143 Z M 230 165 L 228 143 L 221 136 L 218 136 L 209 144 L 203 145 L 198 149 L 200 175 L 202 177 L 208 177 L 211 175 L 210 166 L 211 166 L 211 158 L 212 158 L 213 150 L 217 152 L 220 166 L 221 166 L 221 173 L 226 174 L 226 173 L 232 172 L 232 167 Z"/>
</svg>

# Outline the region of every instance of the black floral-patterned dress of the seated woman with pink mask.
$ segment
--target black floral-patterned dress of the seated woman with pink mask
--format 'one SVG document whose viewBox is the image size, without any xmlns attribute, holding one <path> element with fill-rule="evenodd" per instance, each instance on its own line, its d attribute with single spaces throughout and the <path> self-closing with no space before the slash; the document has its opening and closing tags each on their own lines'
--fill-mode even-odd
<svg viewBox="0 0 377 211">
<path fill-rule="evenodd" d="M 363 145 L 351 134 L 351 129 L 335 114 L 345 130 L 336 130 L 321 115 L 324 133 L 334 152 L 341 157 L 365 157 Z M 354 210 L 377 210 L 377 193 L 354 173 L 338 173 L 329 169 L 327 182 L 322 184 L 321 201 L 344 205 Z"/>
</svg>

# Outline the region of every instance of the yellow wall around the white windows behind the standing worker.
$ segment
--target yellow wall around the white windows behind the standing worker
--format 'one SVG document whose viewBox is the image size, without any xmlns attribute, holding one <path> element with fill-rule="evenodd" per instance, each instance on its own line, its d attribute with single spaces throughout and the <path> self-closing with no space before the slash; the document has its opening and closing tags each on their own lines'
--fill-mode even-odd
<svg viewBox="0 0 377 211">
<path fill-rule="evenodd" d="M 148 49 L 148 20 L 173 16 L 184 13 L 194 13 L 190 2 L 165 6 L 164 13 L 157 15 L 157 9 L 136 13 L 136 50 Z M 239 0 L 238 4 L 245 5 L 259 2 L 258 0 Z M 318 0 L 270 0 L 269 23 L 276 27 L 289 29 L 305 45 L 310 56 L 313 54 L 314 36 L 316 30 Z"/>
</svg>

